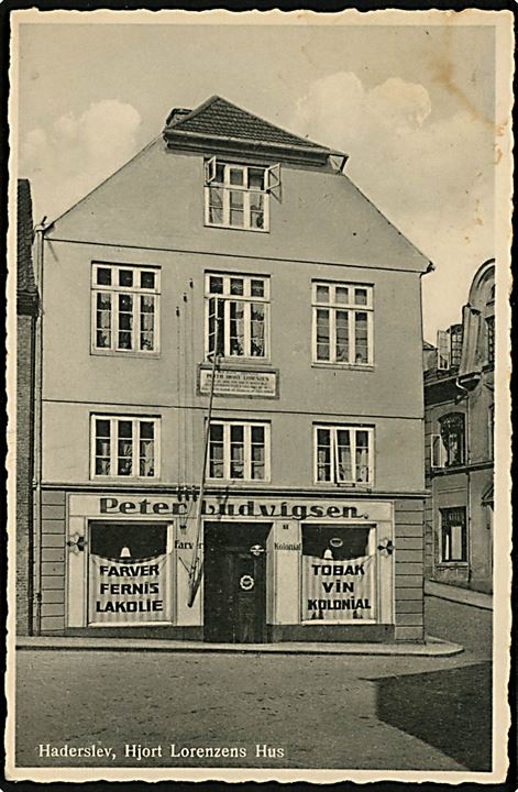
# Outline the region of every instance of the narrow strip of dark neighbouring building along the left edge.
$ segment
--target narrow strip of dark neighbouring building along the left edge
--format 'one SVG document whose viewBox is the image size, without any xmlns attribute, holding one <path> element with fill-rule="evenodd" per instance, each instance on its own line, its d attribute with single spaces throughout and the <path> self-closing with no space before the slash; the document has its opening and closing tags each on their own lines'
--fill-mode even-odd
<svg viewBox="0 0 518 792">
<path fill-rule="evenodd" d="M 33 476 L 34 476 L 34 361 L 37 289 L 34 279 L 31 185 L 18 180 L 16 195 L 16 630 L 33 626 Z"/>
</svg>

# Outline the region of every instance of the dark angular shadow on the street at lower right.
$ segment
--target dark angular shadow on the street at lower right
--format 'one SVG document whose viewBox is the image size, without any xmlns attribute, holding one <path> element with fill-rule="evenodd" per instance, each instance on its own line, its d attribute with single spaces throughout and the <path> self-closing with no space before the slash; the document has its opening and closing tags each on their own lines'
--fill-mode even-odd
<svg viewBox="0 0 518 792">
<path fill-rule="evenodd" d="M 372 680 L 377 716 L 469 770 L 492 765 L 492 664 Z"/>
</svg>

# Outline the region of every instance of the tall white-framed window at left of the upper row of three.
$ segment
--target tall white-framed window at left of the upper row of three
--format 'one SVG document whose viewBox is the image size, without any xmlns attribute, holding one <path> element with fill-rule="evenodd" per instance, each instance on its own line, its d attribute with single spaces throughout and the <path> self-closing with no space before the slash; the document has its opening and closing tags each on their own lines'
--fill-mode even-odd
<svg viewBox="0 0 518 792">
<path fill-rule="evenodd" d="M 157 270 L 93 264 L 93 351 L 158 351 L 158 280 Z"/>
</svg>

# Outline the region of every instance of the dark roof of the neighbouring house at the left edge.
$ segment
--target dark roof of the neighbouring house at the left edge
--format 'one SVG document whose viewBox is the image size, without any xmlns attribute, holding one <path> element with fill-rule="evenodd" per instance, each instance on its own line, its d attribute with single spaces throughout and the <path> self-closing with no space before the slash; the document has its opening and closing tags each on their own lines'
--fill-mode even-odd
<svg viewBox="0 0 518 792">
<path fill-rule="evenodd" d="M 18 179 L 16 207 L 16 297 L 19 312 L 24 314 L 37 298 L 32 265 L 32 198 L 27 179 Z"/>
</svg>

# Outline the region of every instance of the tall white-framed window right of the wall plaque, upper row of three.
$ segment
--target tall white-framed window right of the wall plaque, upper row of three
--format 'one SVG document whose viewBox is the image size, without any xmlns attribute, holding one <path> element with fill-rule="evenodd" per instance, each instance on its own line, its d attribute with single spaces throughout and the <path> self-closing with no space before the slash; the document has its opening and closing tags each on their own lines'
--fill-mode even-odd
<svg viewBox="0 0 518 792">
<path fill-rule="evenodd" d="M 313 282 L 313 361 L 373 363 L 373 288 Z"/>
</svg>

